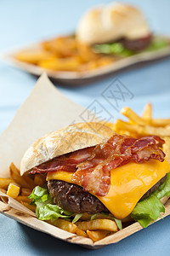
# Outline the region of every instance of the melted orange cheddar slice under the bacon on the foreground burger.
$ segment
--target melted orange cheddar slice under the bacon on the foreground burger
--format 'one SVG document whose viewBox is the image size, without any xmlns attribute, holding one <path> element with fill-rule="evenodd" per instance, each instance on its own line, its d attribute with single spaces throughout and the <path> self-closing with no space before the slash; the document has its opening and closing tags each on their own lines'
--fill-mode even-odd
<svg viewBox="0 0 170 256">
<path fill-rule="evenodd" d="M 95 195 L 116 217 L 125 218 L 140 198 L 169 172 L 167 160 L 150 160 L 143 164 L 128 163 L 111 170 L 111 188 L 105 196 Z M 73 172 L 48 172 L 47 180 L 59 179 L 68 183 Z"/>
</svg>

